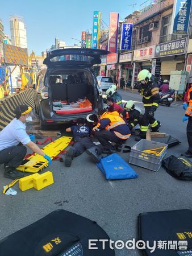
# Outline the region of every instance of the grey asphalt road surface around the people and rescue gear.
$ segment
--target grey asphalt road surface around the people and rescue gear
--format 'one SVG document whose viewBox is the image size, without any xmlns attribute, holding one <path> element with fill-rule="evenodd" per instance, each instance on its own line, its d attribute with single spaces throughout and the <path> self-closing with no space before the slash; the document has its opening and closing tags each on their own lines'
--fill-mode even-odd
<svg viewBox="0 0 192 256">
<path fill-rule="evenodd" d="M 134 100 L 142 110 L 141 96 L 136 92 L 119 90 L 123 100 Z M 168 155 L 179 156 L 187 150 L 186 123 L 182 122 L 184 111 L 180 103 L 170 107 L 159 106 L 155 116 L 161 121 L 161 132 L 169 133 L 182 141 L 169 148 Z M 132 135 L 127 145 L 135 144 Z M 119 153 L 128 162 L 129 153 Z M 16 196 L 0 193 L 0 239 L 39 220 L 56 209 L 65 209 L 97 221 L 116 240 L 137 238 L 139 213 L 191 209 L 191 181 L 174 179 L 164 168 L 153 172 L 132 166 L 139 174 L 137 179 L 107 181 L 97 166 L 84 153 L 75 158 L 70 168 L 64 163 L 53 161 L 44 171 L 52 171 L 54 184 L 41 191 L 14 189 Z M 43 171 L 43 172 L 44 172 Z M 0 166 L 1 188 L 11 180 L 3 177 Z M 158 230 L 157 230 L 158 232 Z M 140 255 L 137 250 L 116 250 L 116 256 Z"/>
</svg>

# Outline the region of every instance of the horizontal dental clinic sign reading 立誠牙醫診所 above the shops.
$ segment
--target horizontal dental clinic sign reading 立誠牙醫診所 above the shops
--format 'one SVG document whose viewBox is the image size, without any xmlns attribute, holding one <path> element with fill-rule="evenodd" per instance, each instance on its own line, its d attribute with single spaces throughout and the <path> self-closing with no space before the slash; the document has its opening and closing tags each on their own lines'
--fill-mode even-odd
<svg viewBox="0 0 192 256">
<path fill-rule="evenodd" d="M 185 46 L 186 46 L 186 38 L 158 44 L 155 49 L 155 57 L 184 54 Z"/>
</svg>

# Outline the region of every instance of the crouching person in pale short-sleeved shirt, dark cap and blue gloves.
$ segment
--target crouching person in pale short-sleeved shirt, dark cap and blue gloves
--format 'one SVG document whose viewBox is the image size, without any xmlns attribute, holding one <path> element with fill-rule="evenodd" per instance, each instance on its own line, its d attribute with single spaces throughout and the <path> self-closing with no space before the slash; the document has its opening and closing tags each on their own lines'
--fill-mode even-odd
<svg viewBox="0 0 192 256">
<path fill-rule="evenodd" d="M 4 164 L 4 177 L 19 179 L 22 172 L 15 168 L 22 164 L 28 146 L 33 152 L 43 156 L 51 164 L 51 158 L 31 141 L 26 133 L 26 119 L 30 117 L 31 107 L 18 105 L 14 110 L 15 118 L 0 133 L 0 164 Z M 24 145 L 24 146 L 23 146 Z"/>
</svg>

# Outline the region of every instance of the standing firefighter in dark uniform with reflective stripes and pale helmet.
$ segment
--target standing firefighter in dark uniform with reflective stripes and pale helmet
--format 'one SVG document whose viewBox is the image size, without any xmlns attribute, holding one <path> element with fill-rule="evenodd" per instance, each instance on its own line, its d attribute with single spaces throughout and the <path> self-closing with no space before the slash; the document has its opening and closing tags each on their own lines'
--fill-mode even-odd
<svg viewBox="0 0 192 256">
<path fill-rule="evenodd" d="M 160 102 L 160 95 L 158 85 L 153 81 L 152 74 L 147 69 L 139 72 L 137 80 L 141 83 L 139 92 L 143 96 L 145 108 L 143 118 L 140 120 L 140 137 L 146 138 L 149 125 L 152 131 L 158 131 L 159 128 L 159 123 L 154 118 L 154 115 Z"/>
</svg>

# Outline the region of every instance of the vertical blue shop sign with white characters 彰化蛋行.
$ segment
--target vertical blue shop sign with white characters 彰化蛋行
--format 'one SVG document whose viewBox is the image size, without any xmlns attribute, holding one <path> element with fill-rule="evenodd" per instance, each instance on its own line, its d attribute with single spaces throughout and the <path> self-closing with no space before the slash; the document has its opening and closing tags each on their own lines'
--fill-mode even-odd
<svg viewBox="0 0 192 256">
<path fill-rule="evenodd" d="M 120 49 L 131 50 L 133 24 L 122 23 Z"/>
</svg>

